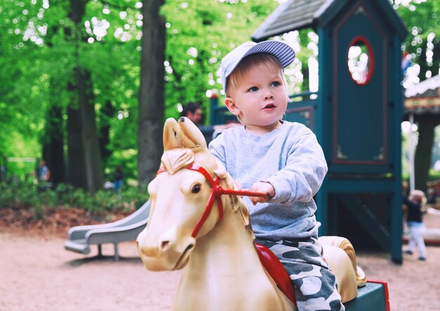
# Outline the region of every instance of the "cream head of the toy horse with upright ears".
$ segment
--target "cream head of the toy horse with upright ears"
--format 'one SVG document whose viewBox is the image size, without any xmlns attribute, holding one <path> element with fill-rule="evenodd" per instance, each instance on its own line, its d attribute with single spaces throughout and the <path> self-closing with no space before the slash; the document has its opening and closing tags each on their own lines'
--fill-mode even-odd
<svg viewBox="0 0 440 311">
<path fill-rule="evenodd" d="M 164 154 L 157 176 L 148 185 L 150 217 L 137 238 L 138 253 L 148 270 L 179 270 L 188 263 L 196 240 L 210 232 L 226 206 L 249 214 L 241 199 L 221 197 L 233 188 L 224 166 L 207 150 L 205 138 L 189 119 L 164 124 Z"/>
</svg>

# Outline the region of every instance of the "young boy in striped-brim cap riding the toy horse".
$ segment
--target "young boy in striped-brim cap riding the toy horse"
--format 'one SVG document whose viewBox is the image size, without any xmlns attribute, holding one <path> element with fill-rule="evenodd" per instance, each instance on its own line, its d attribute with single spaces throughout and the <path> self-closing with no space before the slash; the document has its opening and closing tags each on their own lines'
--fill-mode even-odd
<svg viewBox="0 0 440 311">
<path fill-rule="evenodd" d="M 335 275 L 321 256 L 313 196 L 327 164 L 316 136 L 282 121 L 287 108 L 283 68 L 295 52 L 281 42 L 247 42 L 221 61 L 225 105 L 244 126 L 229 128 L 209 151 L 245 189 L 256 242 L 280 258 L 295 286 L 299 310 L 344 310 Z M 258 203 L 258 204 L 257 204 Z"/>
</svg>

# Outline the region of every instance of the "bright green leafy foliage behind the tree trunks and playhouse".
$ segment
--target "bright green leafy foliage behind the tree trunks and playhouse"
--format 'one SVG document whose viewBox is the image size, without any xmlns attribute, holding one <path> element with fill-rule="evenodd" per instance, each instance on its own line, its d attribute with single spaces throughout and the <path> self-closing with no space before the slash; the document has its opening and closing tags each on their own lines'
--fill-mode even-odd
<svg viewBox="0 0 440 311">
<path fill-rule="evenodd" d="M 41 143 L 50 121 L 47 110 L 53 105 L 62 107 L 60 121 L 66 121 L 66 108 L 73 96 L 69 84 L 74 68 L 79 67 L 91 72 L 98 126 L 110 126 L 106 147 L 111 154 L 105 162 L 108 180 L 117 165 L 127 178 L 136 179 L 140 1 L 84 1 L 86 11 L 78 32 L 72 30 L 71 1 L 1 2 L 0 155 L 41 158 Z M 392 2 L 410 31 L 403 45 L 414 56 L 413 62 L 420 64 L 420 78 L 424 79 L 428 70 L 436 74 L 440 62 L 439 1 Z M 201 102 L 208 112 L 206 91 L 221 89 L 221 58 L 249 41 L 277 6 L 276 0 L 165 1 L 161 9 L 167 22 L 165 117 L 178 117 L 177 104 L 189 101 Z M 296 48 L 297 58 L 304 65 L 313 53 L 306 48 L 311 42 L 309 31 L 295 34 L 301 45 Z M 431 33 L 435 34 L 434 56 L 429 64 L 426 51 Z M 82 41 L 72 44 L 73 34 Z M 291 43 L 292 34 L 283 39 Z M 297 67 L 294 71 L 292 76 L 297 75 Z M 108 102 L 113 108 L 110 115 L 103 113 Z M 8 169 L 23 176 L 33 167 L 10 164 Z M 72 196 L 80 198 L 82 194 Z"/>
</svg>

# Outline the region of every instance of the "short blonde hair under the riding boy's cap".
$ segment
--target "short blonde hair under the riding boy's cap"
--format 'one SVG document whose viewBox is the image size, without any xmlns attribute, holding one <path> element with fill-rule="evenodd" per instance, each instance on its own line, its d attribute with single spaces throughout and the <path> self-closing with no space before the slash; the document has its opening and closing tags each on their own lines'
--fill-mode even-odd
<svg viewBox="0 0 440 311">
<path fill-rule="evenodd" d="M 264 70 L 279 70 L 281 77 L 283 77 L 284 87 L 287 89 L 283 66 L 280 63 L 280 60 L 270 53 L 256 53 L 243 58 L 226 79 L 227 97 L 229 97 L 228 94 L 231 91 L 231 88 L 235 88 L 242 83 L 243 77 L 251 67 L 259 67 Z"/>
</svg>

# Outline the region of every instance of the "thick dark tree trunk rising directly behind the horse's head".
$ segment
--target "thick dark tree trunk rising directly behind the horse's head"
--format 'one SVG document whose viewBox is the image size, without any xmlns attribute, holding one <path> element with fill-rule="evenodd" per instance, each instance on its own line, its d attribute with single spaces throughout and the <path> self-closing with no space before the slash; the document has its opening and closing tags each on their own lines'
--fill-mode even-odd
<svg viewBox="0 0 440 311">
<path fill-rule="evenodd" d="M 162 156 L 164 122 L 165 20 L 164 0 L 143 0 L 141 90 L 138 107 L 138 183 L 155 177 Z"/>
</svg>

